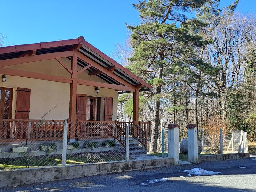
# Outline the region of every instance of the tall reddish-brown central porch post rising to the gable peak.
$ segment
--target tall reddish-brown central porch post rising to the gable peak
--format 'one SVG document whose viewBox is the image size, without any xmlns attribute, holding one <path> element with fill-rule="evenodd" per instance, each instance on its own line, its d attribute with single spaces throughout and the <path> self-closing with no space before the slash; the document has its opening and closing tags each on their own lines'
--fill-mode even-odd
<svg viewBox="0 0 256 192">
<path fill-rule="evenodd" d="M 70 84 L 70 98 L 69 98 L 69 119 L 71 122 L 70 127 L 70 139 L 75 139 L 75 124 L 76 122 L 76 93 L 77 93 L 77 51 L 74 51 L 74 54 L 72 56 L 71 60 L 71 68 L 72 68 L 72 74 L 71 78 L 75 78 L 72 80 L 72 83 Z"/>
</svg>

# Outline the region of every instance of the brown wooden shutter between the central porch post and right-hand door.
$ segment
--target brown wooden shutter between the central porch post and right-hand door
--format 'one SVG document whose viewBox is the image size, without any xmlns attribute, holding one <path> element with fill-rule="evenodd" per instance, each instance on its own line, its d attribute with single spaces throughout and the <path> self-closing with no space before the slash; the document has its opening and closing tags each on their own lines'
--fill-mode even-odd
<svg viewBox="0 0 256 192">
<path fill-rule="evenodd" d="M 77 94 L 76 97 L 76 120 L 86 120 L 87 95 Z"/>
</svg>

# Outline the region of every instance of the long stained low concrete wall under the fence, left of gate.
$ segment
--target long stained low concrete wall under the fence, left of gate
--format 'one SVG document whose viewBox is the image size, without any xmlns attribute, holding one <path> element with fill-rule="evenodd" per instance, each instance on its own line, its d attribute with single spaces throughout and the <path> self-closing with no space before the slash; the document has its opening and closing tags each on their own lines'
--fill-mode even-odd
<svg viewBox="0 0 256 192">
<path fill-rule="evenodd" d="M 173 158 L 131 160 L 0 171 L 0 187 L 73 179 L 97 174 L 173 165 Z"/>
</svg>

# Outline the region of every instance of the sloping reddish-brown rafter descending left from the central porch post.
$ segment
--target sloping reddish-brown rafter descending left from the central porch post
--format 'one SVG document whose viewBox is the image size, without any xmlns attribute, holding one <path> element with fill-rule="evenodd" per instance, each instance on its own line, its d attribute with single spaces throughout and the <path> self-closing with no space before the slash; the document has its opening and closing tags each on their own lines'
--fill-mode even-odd
<svg viewBox="0 0 256 192">
<path fill-rule="evenodd" d="M 29 57 L 5 59 L 5 60 L 0 60 L 0 67 L 18 65 L 22 63 L 30 63 L 30 62 L 42 61 L 42 60 L 50 60 L 50 59 L 56 59 L 61 57 L 70 57 L 72 55 L 73 55 L 73 51 L 64 51 L 64 52 L 56 52 L 56 53 L 46 53 L 42 55 L 32 55 Z"/>
</svg>

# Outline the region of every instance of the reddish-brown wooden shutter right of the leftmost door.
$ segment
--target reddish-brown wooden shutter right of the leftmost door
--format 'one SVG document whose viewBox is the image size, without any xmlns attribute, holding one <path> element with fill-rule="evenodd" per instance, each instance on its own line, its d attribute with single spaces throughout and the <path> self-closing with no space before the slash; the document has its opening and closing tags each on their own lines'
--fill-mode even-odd
<svg viewBox="0 0 256 192">
<path fill-rule="evenodd" d="M 29 119 L 30 91 L 30 89 L 26 88 L 17 88 L 15 119 Z"/>
</svg>

